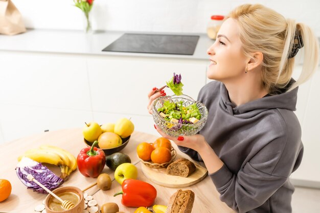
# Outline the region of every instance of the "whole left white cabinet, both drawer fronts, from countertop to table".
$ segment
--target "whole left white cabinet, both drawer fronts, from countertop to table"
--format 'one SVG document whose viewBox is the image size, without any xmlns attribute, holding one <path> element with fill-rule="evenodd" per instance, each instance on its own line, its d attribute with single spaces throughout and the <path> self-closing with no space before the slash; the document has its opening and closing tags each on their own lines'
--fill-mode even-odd
<svg viewBox="0 0 320 213">
<path fill-rule="evenodd" d="M 93 119 L 85 58 L 0 52 L 0 60 L 0 140 Z"/>
</svg>

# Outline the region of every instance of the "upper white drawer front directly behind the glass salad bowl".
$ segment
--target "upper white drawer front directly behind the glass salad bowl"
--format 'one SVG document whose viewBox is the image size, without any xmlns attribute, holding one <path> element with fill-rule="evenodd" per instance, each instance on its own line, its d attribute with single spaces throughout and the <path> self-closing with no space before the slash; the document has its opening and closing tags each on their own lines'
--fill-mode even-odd
<svg viewBox="0 0 320 213">
<path fill-rule="evenodd" d="M 89 84 L 95 112 L 148 115 L 148 92 L 181 74 L 184 94 L 197 99 L 205 85 L 206 62 L 142 57 L 88 59 Z M 169 88 L 167 95 L 173 94 Z"/>
</svg>

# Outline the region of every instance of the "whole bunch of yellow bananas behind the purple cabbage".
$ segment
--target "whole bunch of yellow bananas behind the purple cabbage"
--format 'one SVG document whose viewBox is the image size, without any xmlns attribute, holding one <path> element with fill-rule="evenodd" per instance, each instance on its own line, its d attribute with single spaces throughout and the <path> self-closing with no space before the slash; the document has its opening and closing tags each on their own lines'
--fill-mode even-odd
<svg viewBox="0 0 320 213">
<path fill-rule="evenodd" d="M 20 161 L 22 157 L 29 157 L 40 163 L 57 165 L 61 169 L 60 178 L 63 180 L 66 180 L 68 176 L 77 169 L 77 159 L 75 156 L 70 152 L 51 145 L 41 145 L 37 149 L 30 149 L 19 156 L 18 161 Z"/>
</svg>

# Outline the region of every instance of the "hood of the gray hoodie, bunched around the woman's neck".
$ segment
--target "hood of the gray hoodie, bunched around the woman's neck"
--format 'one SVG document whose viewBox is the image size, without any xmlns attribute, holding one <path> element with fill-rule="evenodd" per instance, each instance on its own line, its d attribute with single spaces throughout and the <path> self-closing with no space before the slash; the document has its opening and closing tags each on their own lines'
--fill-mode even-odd
<svg viewBox="0 0 320 213">
<path fill-rule="evenodd" d="M 221 99 L 219 101 L 220 107 L 224 111 L 239 117 L 252 117 L 263 111 L 269 109 L 287 109 L 290 111 L 295 111 L 298 87 L 294 88 L 289 92 L 285 92 L 290 85 L 294 82 L 293 79 L 290 80 L 287 87 L 282 91 L 282 93 L 275 94 L 272 96 L 266 96 L 261 99 L 250 101 L 248 103 L 236 106 L 233 104 L 228 96 L 228 91 L 223 83 L 220 84 Z"/>
</svg>

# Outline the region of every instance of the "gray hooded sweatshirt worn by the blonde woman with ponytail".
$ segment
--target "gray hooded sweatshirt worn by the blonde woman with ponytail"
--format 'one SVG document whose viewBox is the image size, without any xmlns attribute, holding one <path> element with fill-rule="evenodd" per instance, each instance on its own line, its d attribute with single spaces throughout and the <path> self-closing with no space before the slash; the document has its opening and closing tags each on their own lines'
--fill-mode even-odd
<svg viewBox="0 0 320 213">
<path fill-rule="evenodd" d="M 291 81 L 292 82 L 292 81 Z M 291 212 L 290 174 L 301 162 L 301 127 L 295 110 L 298 88 L 235 106 L 224 84 L 199 92 L 208 121 L 200 131 L 223 167 L 209 174 L 220 199 L 237 212 Z M 192 149 L 179 147 L 195 160 Z"/>
</svg>

